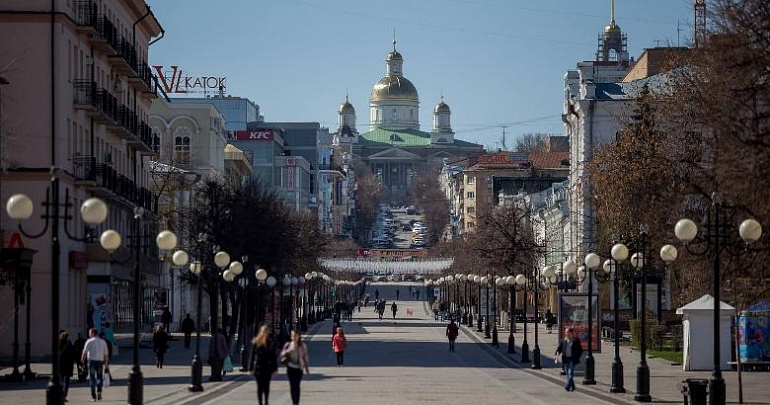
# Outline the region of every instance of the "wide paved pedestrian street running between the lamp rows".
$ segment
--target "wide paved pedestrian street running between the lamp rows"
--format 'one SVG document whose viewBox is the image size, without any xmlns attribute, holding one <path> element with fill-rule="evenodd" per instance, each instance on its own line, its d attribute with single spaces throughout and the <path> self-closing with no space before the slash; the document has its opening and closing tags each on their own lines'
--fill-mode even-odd
<svg viewBox="0 0 770 405">
<path fill-rule="evenodd" d="M 370 287 L 371 288 L 371 287 Z M 395 285 L 379 285 L 381 297 L 389 305 L 395 298 Z M 400 287 L 403 294 L 406 287 Z M 638 353 L 623 348 L 625 364 L 625 394 L 610 394 L 610 364 L 612 344 L 604 342 L 603 352 L 595 355 L 597 385 L 582 385 L 582 376 L 576 375 L 577 391 L 566 392 L 552 353 L 556 334 L 548 335 L 541 329 L 542 370 L 532 370 L 530 364 L 521 364 L 520 349 L 523 341 L 521 325 L 516 332 L 517 353 L 507 353 L 507 331 L 500 331 L 499 347 L 466 326 L 461 326 L 456 351 L 449 352 L 444 328 L 446 323 L 436 321 L 424 301 L 398 301 L 397 318 L 380 321 L 371 305 L 356 312 L 352 322 L 343 322 L 348 338 L 345 366 L 337 367 L 331 345 L 331 321 L 311 325 L 305 335 L 310 352 L 310 375 L 302 381 L 303 405 L 347 404 L 632 404 Z M 410 309 L 411 315 L 407 314 Z M 533 325 L 529 328 L 529 345 L 534 347 Z M 204 366 L 204 392 L 188 392 L 190 362 L 194 353 L 185 349 L 181 335 L 175 335 L 166 366 L 154 366 L 152 350 L 140 349 L 144 376 L 144 403 L 169 405 L 255 404 L 256 384 L 247 373 L 238 371 L 239 359 L 233 358 L 236 370 L 228 373 L 222 382 L 208 382 L 209 367 Z M 201 357 L 206 360 L 208 338 L 201 340 Z M 125 404 L 126 379 L 131 369 L 131 336 L 120 336 L 120 352 L 112 361 L 110 370 L 115 378 L 105 388 L 104 404 Z M 681 366 L 670 365 L 659 359 L 649 360 L 651 395 L 656 403 L 682 403 L 678 387 L 685 378 L 708 378 L 709 372 L 684 372 Z M 33 364 L 33 371 L 47 374 L 50 365 Z M 2 370 L 2 374 L 10 370 Z M 763 387 L 768 381 L 766 372 L 743 373 L 744 401 L 768 404 Z M 728 403 L 737 403 L 737 373 L 725 372 Z M 40 378 L 21 383 L 0 383 L 0 404 L 42 404 L 45 402 L 47 379 Z M 285 368 L 273 379 L 270 404 L 291 404 Z M 69 403 L 90 401 L 87 383 L 72 384 Z"/>
</svg>

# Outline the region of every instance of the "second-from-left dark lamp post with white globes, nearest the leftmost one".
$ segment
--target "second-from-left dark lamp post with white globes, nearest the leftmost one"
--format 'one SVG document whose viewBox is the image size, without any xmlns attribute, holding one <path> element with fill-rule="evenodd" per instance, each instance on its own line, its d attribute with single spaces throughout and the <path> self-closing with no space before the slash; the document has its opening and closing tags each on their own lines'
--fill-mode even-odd
<svg viewBox="0 0 770 405">
<path fill-rule="evenodd" d="M 142 301 L 142 275 L 141 275 L 141 250 L 142 246 L 142 218 L 144 216 L 144 210 L 142 208 L 134 209 L 134 235 L 129 236 L 129 239 L 133 239 L 134 249 L 134 345 L 133 345 L 133 366 L 128 373 L 128 403 L 131 405 L 144 403 L 144 377 L 142 376 L 141 363 L 139 362 L 139 342 L 141 340 L 141 334 L 139 326 L 141 324 L 141 301 Z M 121 235 L 112 229 L 104 231 L 99 243 L 104 250 L 112 254 L 115 252 L 122 243 Z M 155 243 L 161 252 L 168 252 L 176 248 L 177 237 L 168 230 L 161 231 L 155 238 Z M 172 260 L 174 265 L 183 266 L 187 264 L 188 255 L 184 251 L 177 251 L 174 253 Z"/>
</svg>

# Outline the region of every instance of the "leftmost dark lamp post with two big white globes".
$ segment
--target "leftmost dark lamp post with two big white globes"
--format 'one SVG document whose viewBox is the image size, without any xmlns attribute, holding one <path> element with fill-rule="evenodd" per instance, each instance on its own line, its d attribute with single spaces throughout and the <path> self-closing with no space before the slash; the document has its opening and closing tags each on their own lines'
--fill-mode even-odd
<svg viewBox="0 0 770 405">
<path fill-rule="evenodd" d="M 69 198 L 69 189 L 65 192 L 64 202 L 60 202 L 58 169 L 51 168 L 51 186 L 46 191 L 46 199 L 42 203 L 45 213 L 41 218 L 45 219 L 45 226 L 38 234 L 24 232 L 21 224 L 19 231 L 29 238 L 39 238 L 48 230 L 49 220 L 51 225 L 51 379 L 46 388 L 46 404 L 60 405 L 64 402 L 64 390 L 62 389 L 59 375 L 59 309 L 61 303 L 59 297 L 59 278 L 61 266 L 61 242 L 59 241 L 59 220 L 64 220 L 65 234 L 72 240 L 84 241 L 70 234 L 67 228 L 69 208 L 72 206 Z M 60 210 L 64 210 L 63 215 Z M 29 219 L 34 211 L 34 203 L 24 194 L 15 194 L 8 199 L 6 212 L 8 216 L 17 221 Z M 80 207 L 80 215 L 83 221 L 90 226 L 100 225 L 107 218 L 107 205 L 98 198 L 89 198 Z"/>
</svg>

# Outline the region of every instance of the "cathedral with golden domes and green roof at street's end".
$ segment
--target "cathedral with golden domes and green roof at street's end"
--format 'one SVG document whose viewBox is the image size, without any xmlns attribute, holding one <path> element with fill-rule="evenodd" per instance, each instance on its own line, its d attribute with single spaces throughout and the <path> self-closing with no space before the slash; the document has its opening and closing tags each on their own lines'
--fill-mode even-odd
<svg viewBox="0 0 770 405">
<path fill-rule="evenodd" d="M 364 161 L 386 190 L 384 203 L 409 205 L 412 182 L 435 171 L 444 162 L 457 162 L 484 153 L 481 145 L 455 139 L 449 106 L 443 96 L 433 109 L 433 128 L 420 130 L 420 98 L 417 88 L 404 77 L 404 58 L 393 50 L 385 58 L 385 75 L 369 96 L 369 130 L 359 133 L 356 110 L 345 98 L 340 106 L 335 144 L 345 147 L 353 159 Z"/>
</svg>

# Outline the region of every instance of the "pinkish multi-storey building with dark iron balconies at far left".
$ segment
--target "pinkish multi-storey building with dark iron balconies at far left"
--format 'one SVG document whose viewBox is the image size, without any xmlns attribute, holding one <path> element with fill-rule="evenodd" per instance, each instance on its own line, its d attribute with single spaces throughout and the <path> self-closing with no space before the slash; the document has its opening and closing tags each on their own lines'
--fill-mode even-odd
<svg viewBox="0 0 770 405">
<path fill-rule="evenodd" d="M 115 229 L 124 235 L 125 246 L 125 235 L 133 234 L 134 208 L 156 210 L 149 191 L 154 150 L 147 123 L 157 84 L 147 51 L 153 40 L 162 38 L 163 29 L 143 0 L 4 0 L 0 8 L 0 200 L 5 205 L 9 196 L 24 193 L 35 202 L 23 228 L 42 234 L 21 240 L 37 251 L 26 305 L 31 356 L 39 359 L 51 354 L 52 299 L 58 327 L 69 330 L 73 339 L 91 324 L 130 330 L 133 323 L 133 263 L 112 260 L 132 255 L 122 249 L 111 258 L 99 246 L 98 234 Z M 41 218 L 52 173 L 58 179 L 59 203 L 71 204 L 60 208 L 58 255 L 52 252 L 55 222 Z M 78 207 L 89 197 L 99 197 L 109 207 L 99 229 L 87 229 L 80 218 Z M 7 251 L 12 238 L 18 241 L 13 237 L 17 224 L 5 211 L 0 218 Z M 89 234 L 97 238 L 81 242 L 70 237 Z M 23 359 L 26 307 L 20 306 L 16 328 L 9 315 L 14 313 L 15 284 L 6 264 L 0 264 L 0 281 L 6 281 L 0 285 L 0 356 L 12 355 L 18 329 Z M 148 314 L 155 297 L 162 296 L 154 293 L 161 290 L 159 268 L 149 263 L 141 268 Z"/>
</svg>

